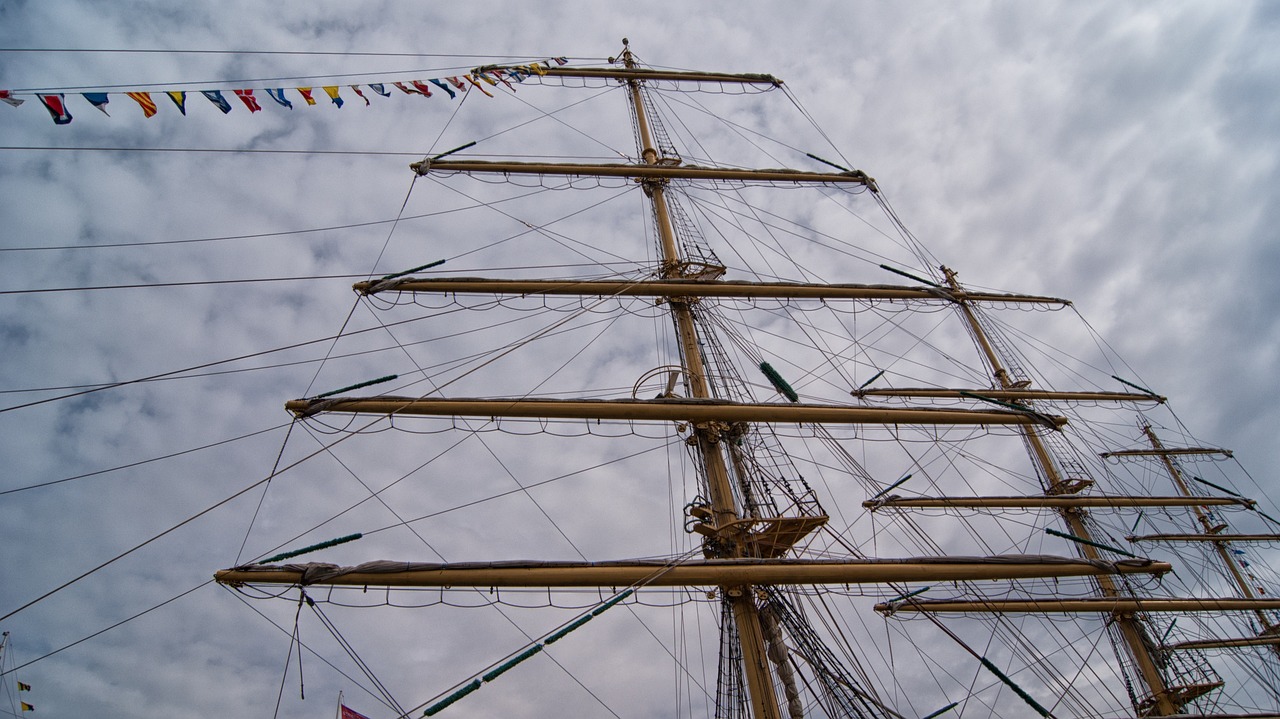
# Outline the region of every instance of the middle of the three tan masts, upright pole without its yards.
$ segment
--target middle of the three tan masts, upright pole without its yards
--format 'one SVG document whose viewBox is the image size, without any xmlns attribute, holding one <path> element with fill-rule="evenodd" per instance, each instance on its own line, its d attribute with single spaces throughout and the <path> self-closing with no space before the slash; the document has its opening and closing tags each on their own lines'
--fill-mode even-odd
<svg viewBox="0 0 1280 719">
<path fill-rule="evenodd" d="M 948 267 L 942 267 L 943 275 L 946 275 L 947 285 L 951 292 L 960 292 L 960 283 L 956 280 L 956 273 Z M 1000 383 L 1000 389 L 1021 389 L 1019 383 L 1015 383 L 1012 377 L 1009 376 L 1009 371 L 1001 363 L 1000 357 L 996 354 L 991 340 L 987 338 L 987 333 L 982 329 L 982 324 L 978 321 L 978 316 L 974 313 L 973 307 L 964 299 L 956 301 L 956 307 L 960 308 L 961 316 L 964 316 L 965 322 L 969 325 L 969 330 L 973 333 L 974 340 L 982 349 L 987 363 L 991 367 L 992 376 Z M 1065 477 L 1057 471 L 1057 466 L 1053 463 L 1048 448 L 1041 439 L 1039 434 L 1034 427 L 1025 426 L 1021 427 L 1023 436 L 1027 439 L 1028 446 L 1032 450 L 1032 461 L 1041 471 L 1041 476 L 1048 482 L 1048 489 L 1065 486 Z M 1046 491 L 1048 494 L 1048 491 Z M 1088 559 L 1100 559 L 1097 546 L 1092 542 L 1091 532 L 1084 522 L 1084 509 L 1080 507 L 1066 507 L 1059 509 L 1066 526 L 1071 530 L 1071 533 L 1076 537 L 1084 540 L 1080 542 L 1080 551 Z M 1111 577 L 1100 576 L 1096 578 L 1098 582 L 1098 590 L 1106 599 L 1119 599 L 1120 592 L 1116 589 L 1115 581 Z M 1142 627 L 1134 619 L 1132 612 L 1124 612 L 1117 609 L 1112 614 L 1115 617 L 1116 627 L 1120 629 L 1120 635 L 1124 637 L 1125 646 L 1129 649 L 1130 656 L 1138 664 L 1138 672 L 1142 676 L 1143 683 L 1147 684 L 1147 691 L 1151 695 L 1153 702 L 1153 715 L 1166 716 L 1178 714 L 1180 706 L 1176 706 L 1170 699 L 1169 687 L 1165 684 L 1165 678 L 1160 672 L 1160 667 L 1156 664 L 1149 649 L 1149 641 L 1143 633 Z"/>
</svg>

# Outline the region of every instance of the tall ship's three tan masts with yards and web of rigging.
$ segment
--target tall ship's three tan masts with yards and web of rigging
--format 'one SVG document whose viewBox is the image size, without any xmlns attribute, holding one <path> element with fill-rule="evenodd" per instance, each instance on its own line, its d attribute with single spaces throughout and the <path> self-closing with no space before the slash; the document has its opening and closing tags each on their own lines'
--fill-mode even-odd
<svg viewBox="0 0 1280 719">
<path fill-rule="evenodd" d="M 966 284 L 873 169 L 753 127 L 804 113 L 772 75 L 623 41 L 468 79 L 607 93 L 634 148 L 557 110 L 415 162 L 466 219 L 285 406 L 367 494 L 216 581 L 319 617 L 361 711 L 1280 718 L 1274 507 L 1069 299 Z"/>
</svg>

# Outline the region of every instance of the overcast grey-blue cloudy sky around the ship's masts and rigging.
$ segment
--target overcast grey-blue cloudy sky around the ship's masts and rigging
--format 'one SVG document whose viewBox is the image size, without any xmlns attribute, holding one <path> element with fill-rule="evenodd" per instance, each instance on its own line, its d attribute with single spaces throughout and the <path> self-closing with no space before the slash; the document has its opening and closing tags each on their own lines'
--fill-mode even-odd
<svg viewBox="0 0 1280 719">
<path fill-rule="evenodd" d="M 600 64 L 621 50 L 622 37 L 655 67 L 782 78 L 790 96 L 744 99 L 741 109 L 733 97 L 671 101 L 673 107 L 677 100 L 689 102 L 678 107 L 695 118 L 703 110 L 704 119 L 717 113 L 773 138 L 758 139 L 754 150 L 740 143 L 749 148 L 742 155 L 721 154 L 721 145 L 709 143 L 708 155 L 727 164 L 822 169 L 804 157 L 812 151 L 865 170 L 905 225 L 963 281 L 1073 299 L 1128 363 L 1117 366 L 1128 377 L 1169 395 L 1201 441 L 1235 450 L 1257 480 L 1244 477 L 1243 493 L 1275 495 L 1277 480 L 1268 470 L 1280 466 L 1274 441 L 1280 425 L 1275 4 L 714 1 L 650 3 L 641 10 L 586 3 L 411 8 L 285 0 L 191 8 L 147 0 L 6 0 L 0 4 L 0 90 L 27 102 L 0 105 L 0 614 L 6 615 L 0 628 L 12 636 L 4 669 L 173 600 L 18 670 L 17 678 L 35 687 L 23 699 L 41 715 L 269 716 L 276 711 L 282 677 L 282 716 L 324 716 L 339 690 L 375 719 L 392 715 L 360 682 L 310 654 L 302 656 L 307 699 L 300 699 L 297 655 L 285 673 L 289 637 L 255 613 L 270 613 L 292 628 L 288 601 L 250 608 L 225 590 L 196 587 L 212 571 L 280 545 L 394 523 L 389 508 L 366 502 L 343 522 L 306 533 L 366 499 L 366 486 L 390 484 L 454 441 L 425 431 L 356 438 L 342 445 L 343 452 L 351 448 L 349 455 L 335 450 L 303 463 L 264 495 L 259 482 L 273 466 L 296 463 L 340 436 L 321 431 L 352 429 L 342 421 L 330 429 L 300 427 L 285 441 L 285 399 L 448 360 L 429 347 L 347 363 L 320 358 L 387 347 L 393 336 L 429 342 L 463 328 L 476 330 L 471 352 L 509 338 L 479 331 L 493 317 L 470 312 L 457 325 L 399 336 L 369 331 L 342 343 L 315 340 L 338 334 L 348 315 L 349 330 L 424 313 L 408 308 L 374 317 L 364 306 L 353 311 L 351 276 L 443 257 L 451 258 L 447 267 L 475 275 L 575 256 L 607 261 L 595 249 L 603 247 L 602 237 L 617 243 L 608 246 L 611 257 L 644 260 L 650 243 L 640 232 L 645 215 L 639 196 L 626 196 L 625 188 L 584 193 L 588 203 L 623 196 L 614 205 L 635 224 L 620 238 L 614 223 L 622 220 L 603 211 L 561 223 L 573 203 L 584 205 L 579 197 L 515 197 L 532 188 L 499 188 L 512 196 L 503 214 L 471 212 L 454 221 L 442 212 L 468 207 L 494 188 L 413 182 L 407 169 L 416 159 L 470 141 L 480 141 L 476 156 L 620 160 L 634 146 L 623 99 L 608 86 L 521 87 L 494 99 L 471 93 L 465 102 L 440 92 L 431 99 L 398 91 L 379 97 L 365 90 L 369 106 L 346 87 L 553 56 Z M 344 88 L 344 107 L 333 106 L 317 87 L 316 106 L 293 93 L 292 110 L 257 92 L 264 109 L 251 114 L 230 93 L 330 83 Z M 227 93 L 229 114 L 198 96 L 210 88 Z M 154 93 L 154 118 L 143 118 L 122 95 L 131 90 Z M 186 116 L 163 96 L 165 90 L 189 92 Z M 73 122 L 55 125 L 35 92 L 65 93 Z M 81 92 L 111 93 L 110 116 Z M 588 97 L 557 119 L 545 116 Z M 727 127 L 719 125 L 722 134 L 733 134 Z M 795 203 L 790 209 L 833 233 L 869 217 L 832 216 Z M 398 215 L 404 217 L 399 224 L 388 221 Z M 527 243 L 517 237 L 489 247 L 553 221 L 561 242 L 543 233 Z M 882 219 L 872 221 L 888 229 Z M 913 271 L 928 270 L 906 265 L 911 260 L 901 251 L 893 258 Z M 822 267 L 820 278 L 829 281 L 895 280 L 874 264 L 818 262 L 810 266 Z M 271 278 L 334 279 L 227 281 Z M 170 283 L 178 284 L 157 287 Z M 83 289 L 114 285 L 151 287 Z M 650 333 L 641 340 L 652 345 L 658 325 L 645 324 L 652 317 L 643 311 L 630 319 L 639 322 L 635 331 Z M 224 362 L 296 343 L 312 344 Z M 541 351 L 534 361 L 563 360 Z M 552 375 L 548 391 L 581 383 L 630 388 L 634 370 L 653 365 L 649 357 L 602 352 L 599 363 L 580 365 L 572 376 L 547 368 L 535 374 Z M 161 375 L 168 376 L 65 397 Z M 518 391 L 522 380 L 508 367 L 468 376 L 458 389 Z M 663 455 L 662 432 L 650 434 L 639 449 L 657 448 L 654 455 Z M 403 454 L 397 448 L 406 443 L 417 446 Z M 360 449 L 352 446 L 357 444 Z M 436 476 L 384 499 L 396 502 L 403 517 L 421 516 L 513 486 L 507 477 L 495 480 L 497 473 L 509 471 L 529 484 L 620 457 L 593 445 L 575 450 L 584 453 L 572 462 L 558 462 L 558 449 L 532 450 L 507 435 L 475 452 L 467 458 L 492 485 L 471 491 Z M 170 454 L 175 457 L 142 463 Z M 347 461 L 364 466 L 347 473 Z M 467 463 L 456 467 L 461 472 Z M 621 517 L 594 509 L 594 503 L 643 507 L 653 487 L 627 485 L 625 467 L 643 464 L 613 466 L 620 481 L 608 487 L 584 482 L 539 495 L 543 509 L 573 537 L 572 546 L 581 545 L 593 559 L 671 550 L 671 519 L 662 517 L 667 504 Z M 250 486 L 255 489 L 140 551 L 14 612 Z M 668 487 L 658 491 L 666 495 Z M 678 486 L 671 493 L 681 496 L 672 500 L 678 509 L 687 495 Z M 512 548 L 529 554 L 554 548 L 554 557 L 573 558 L 549 523 L 527 533 L 516 528 L 516 517 L 539 508 L 516 499 L 495 507 L 421 526 L 419 536 L 381 532 L 358 550 L 325 559 L 489 559 Z M 644 536 L 650 519 L 662 522 L 654 539 L 632 536 Z M 300 535 L 306 540 L 294 540 Z M 393 622 L 366 624 L 353 617 L 342 624 L 406 706 L 522 641 L 492 609 L 436 609 L 429 622 L 392 609 Z M 530 633 L 571 617 L 557 614 L 548 623 L 527 610 L 507 612 Z M 477 628 L 457 629 L 476 613 L 485 613 Z M 596 629 L 598 646 L 632 641 L 630 617 L 607 622 Z M 344 672 L 356 672 L 315 617 L 301 632 L 303 641 L 326 647 L 321 654 Z M 493 651 L 463 651 L 490 641 Z M 648 641 L 645 656 L 662 651 Z M 384 646 L 396 649 L 388 654 Z M 545 661 L 525 677 L 513 674 L 512 686 L 529 693 L 477 697 L 476 711 L 553 715 L 548 706 L 557 705 L 547 704 L 556 701 L 548 692 L 563 692 L 558 706 L 586 715 L 681 711 L 669 702 L 650 704 L 645 688 L 650 679 L 672 683 L 669 668 L 593 659 L 586 649 L 563 651 L 600 701 Z M 618 681 L 623 672 L 630 678 Z M 10 679 L 5 677 L 0 713 L 15 707 Z M 699 700 L 684 714 L 696 715 L 701 706 Z"/>
</svg>

